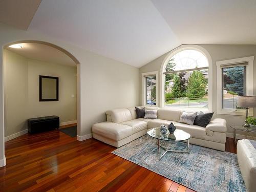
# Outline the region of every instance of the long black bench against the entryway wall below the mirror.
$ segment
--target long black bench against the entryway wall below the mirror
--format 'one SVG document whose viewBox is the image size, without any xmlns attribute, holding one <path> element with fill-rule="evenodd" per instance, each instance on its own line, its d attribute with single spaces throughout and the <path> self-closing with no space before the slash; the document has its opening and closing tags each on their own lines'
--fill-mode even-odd
<svg viewBox="0 0 256 192">
<path fill-rule="evenodd" d="M 40 133 L 59 128 L 58 116 L 37 117 L 28 119 L 28 132 Z"/>
</svg>

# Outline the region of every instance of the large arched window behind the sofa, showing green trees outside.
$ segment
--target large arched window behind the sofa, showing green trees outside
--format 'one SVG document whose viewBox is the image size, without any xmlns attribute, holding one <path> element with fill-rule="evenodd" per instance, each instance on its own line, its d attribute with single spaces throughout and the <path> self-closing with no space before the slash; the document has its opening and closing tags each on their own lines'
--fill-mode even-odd
<svg viewBox="0 0 256 192">
<path fill-rule="evenodd" d="M 202 51 L 191 47 L 175 50 L 162 67 L 162 105 L 212 110 L 209 106 L 209 61 Z"/>
</svg>

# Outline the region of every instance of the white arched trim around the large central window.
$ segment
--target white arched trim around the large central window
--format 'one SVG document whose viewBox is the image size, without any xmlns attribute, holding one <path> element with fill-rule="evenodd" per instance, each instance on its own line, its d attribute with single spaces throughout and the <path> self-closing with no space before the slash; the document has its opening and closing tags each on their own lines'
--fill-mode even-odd
<svg viewBox="0 0 256 192">
<path fill-rule="evenodd" d="M 204 48 L 197 45 L 182 45 L 170 51 L 162 61 L 160 68 L 160 107 L 165 106 L 165 68 L 167 62 L 176 54 L 185 50 L 195 50 L 202 53 L 208 61 L 208 111 L 212 111 L 212 60 L 211 56 Z M 180 70 L 182 71 L 182 70 Z"/>
</svg>

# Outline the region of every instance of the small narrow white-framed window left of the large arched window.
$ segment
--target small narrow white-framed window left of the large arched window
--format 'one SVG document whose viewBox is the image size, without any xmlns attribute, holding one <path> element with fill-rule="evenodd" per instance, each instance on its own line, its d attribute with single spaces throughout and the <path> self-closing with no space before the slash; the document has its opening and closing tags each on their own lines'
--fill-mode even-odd
<svg viewBox="0 0 256 192">
<path fill-rule="evenodd" d="M 142 74 L 143 105 L 157 105 L 157 74 L 158 72 Z"/>
</svg>

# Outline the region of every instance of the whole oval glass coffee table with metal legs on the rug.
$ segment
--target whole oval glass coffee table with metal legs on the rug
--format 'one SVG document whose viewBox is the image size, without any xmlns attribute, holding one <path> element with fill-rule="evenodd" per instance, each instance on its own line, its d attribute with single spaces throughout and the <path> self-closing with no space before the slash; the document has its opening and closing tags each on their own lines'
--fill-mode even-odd
<svg viewBox="0 0 256 192">
<path fill-rule="evenodd" d="M 156 139 L 156 144 L 158 145 L 158 160 L 161 160 L 162 157 L 167 153 L 167 152 L 175 152 L 175 153 L 189 153 L 189 139 L 190 139 L 190 134 L 183 131 L 183 130 L 179 130 L 176 129 L 175 132 L 173 134 L 169 134 L 169 132 L 167 131 L 166 134 L 156 134 L 156 128 L 153 128 L 149 131 L 147 131 L 147 135 L 153 137 Z M 184 151 L 176 151 L 176 150 L 169 150 L 166 149 L 165 147 L 160 145 L 160 140 L 162 141 L 186 141 L 187 140 L 187 150 Z M 160 155 L 160 147 L 163 148 L 163 150 L 165 150 L 163 155 Z"/>
</svg>

